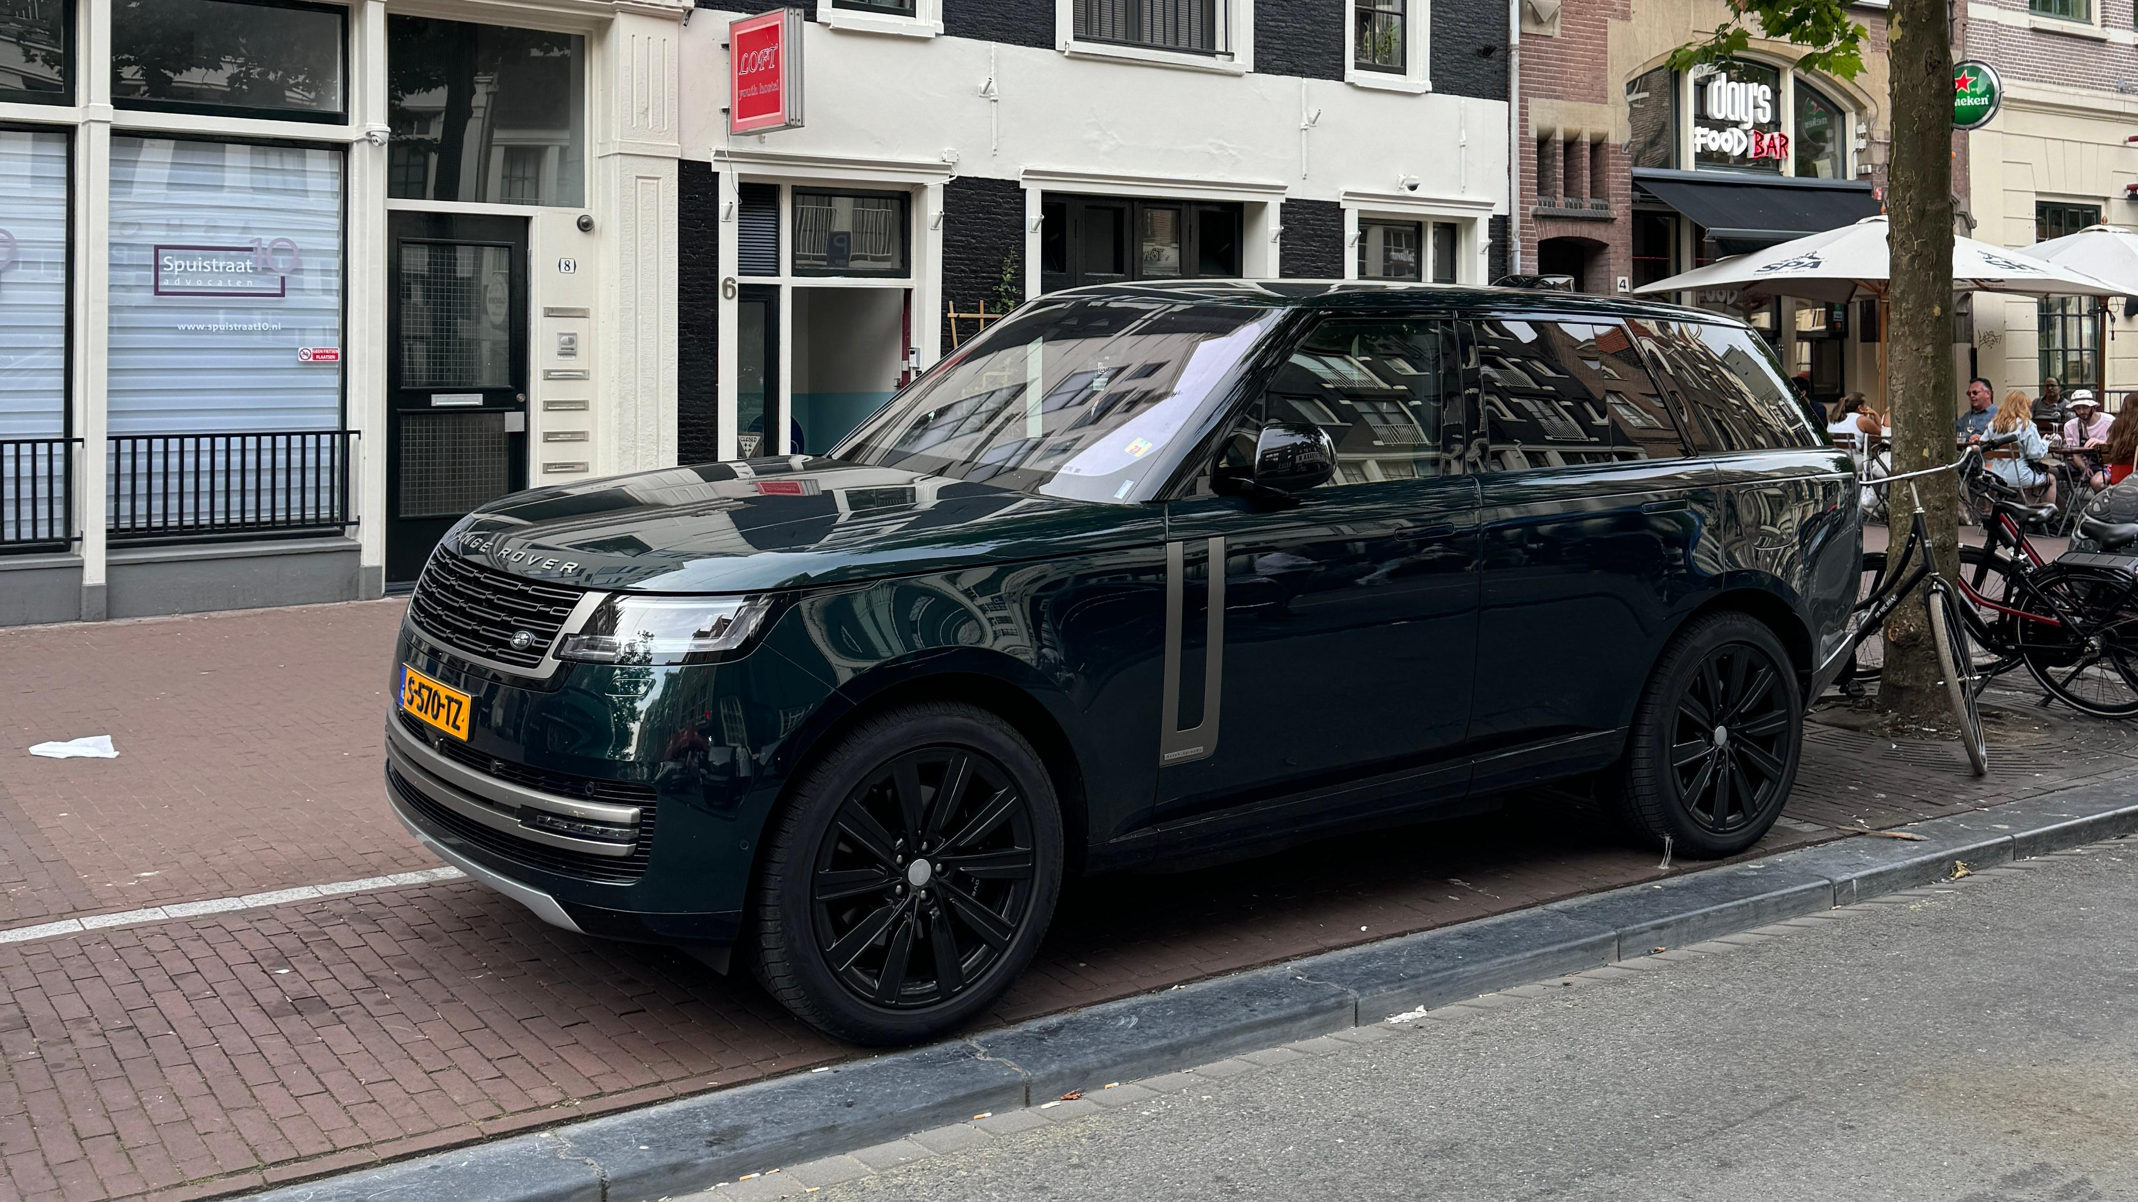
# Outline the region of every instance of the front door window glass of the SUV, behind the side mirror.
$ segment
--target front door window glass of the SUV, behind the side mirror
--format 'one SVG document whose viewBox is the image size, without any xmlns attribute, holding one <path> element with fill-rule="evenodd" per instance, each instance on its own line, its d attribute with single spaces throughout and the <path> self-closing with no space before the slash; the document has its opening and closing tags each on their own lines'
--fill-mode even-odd
<svg viewBox="0 0 2138 1202">
<path fill-rule="evenodd" d="M 1336 475 L 1323 488 L 1454 475 L 1462 447 L 1460 379 L 1454 323 L 1334 319 L 1315 325 L 1291 351 L 1257 417 L 1308 421 L 1328 432 L 1336 443 Z"/>
</svg>

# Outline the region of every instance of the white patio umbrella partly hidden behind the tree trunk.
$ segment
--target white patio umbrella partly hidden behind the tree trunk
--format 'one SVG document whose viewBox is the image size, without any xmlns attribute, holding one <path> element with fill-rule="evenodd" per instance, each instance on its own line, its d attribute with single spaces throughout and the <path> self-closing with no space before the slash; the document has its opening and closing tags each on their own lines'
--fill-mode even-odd
<svg viewBox="0 0 2138 1202">
<path fill-rule="evenodd" d="M 1890 276 L 1892 255 L 1886 250 L 1886 218 L 1866 216 L 1856 225 L 1807 233 L 1794 242 L 1736 255 L 1633 291 L 1732 289 L 1740 295 L 1841 304 L 1856 297 L 1884 299 Z M 2005 250 L 1973 237 L 1952 240 L 1952 289 L 2029 297 L 2121 297 L 2132 291 L 2076 267 L 2038 259 L 2027 250 Z"/>
</svg>

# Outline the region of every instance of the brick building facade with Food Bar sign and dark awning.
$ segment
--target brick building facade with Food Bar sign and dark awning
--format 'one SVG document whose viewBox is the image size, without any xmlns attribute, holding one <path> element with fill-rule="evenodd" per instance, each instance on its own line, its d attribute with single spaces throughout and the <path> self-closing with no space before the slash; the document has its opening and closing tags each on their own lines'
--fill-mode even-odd
<svg viewBox="0 0 2138 1202">
<path fill-rule="evenodd" d="M 1800 47 L 1753 38 L 1742 64 L 1721 73 L 1736 92 L 1717 96 L 1760 107 L 1732 118 L 1708 111 L 1713 77 L 1668 68 L 1674 49 L 1730 19 L 1721 0 L 1522 0 L 1520 15 L 1524 272 L 1571 276 L 1589 293 L 1633 291 L 1877 212 L 1888 148 L 1881 4 L 1856 11 L 1871 36 L 1852 81 L 1798 73 Z M 1730 145 L 1738 150 L 1721 150 Z M 1864 387 L 1875 355 L 1845 319 L 1813 321 L 1809 306 L 1787 302 L 1732 312 L 1762 325 L 1817 394 Z"/>
</svg>

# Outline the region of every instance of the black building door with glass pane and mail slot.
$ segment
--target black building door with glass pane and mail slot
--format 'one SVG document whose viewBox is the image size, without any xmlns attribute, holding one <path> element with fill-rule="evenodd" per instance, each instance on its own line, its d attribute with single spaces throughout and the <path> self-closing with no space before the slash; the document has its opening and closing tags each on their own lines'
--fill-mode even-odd
<svg viewBox="0 0 2138 1202">
<path fill-rule="evenodd" d="M 389 214 L 387 582 L 528 483 L 524 218 Z"/>
</svg>

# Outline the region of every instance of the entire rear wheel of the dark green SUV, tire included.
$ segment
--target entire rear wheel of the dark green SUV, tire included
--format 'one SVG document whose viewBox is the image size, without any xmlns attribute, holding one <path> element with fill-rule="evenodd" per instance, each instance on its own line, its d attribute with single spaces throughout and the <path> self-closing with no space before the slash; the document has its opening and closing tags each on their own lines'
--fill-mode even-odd
<svg viewBox="0 0 2138 1202">
<path fill-rule="evenodd" d="M 1781 817 L 1802 731 L 1796 667 L 1775 631 L 1749 614 L 1695 618 L 1648 674 L 1612 774 L 1618 815 L 1676 856 L 1736 856 Z"/>
</svg>

